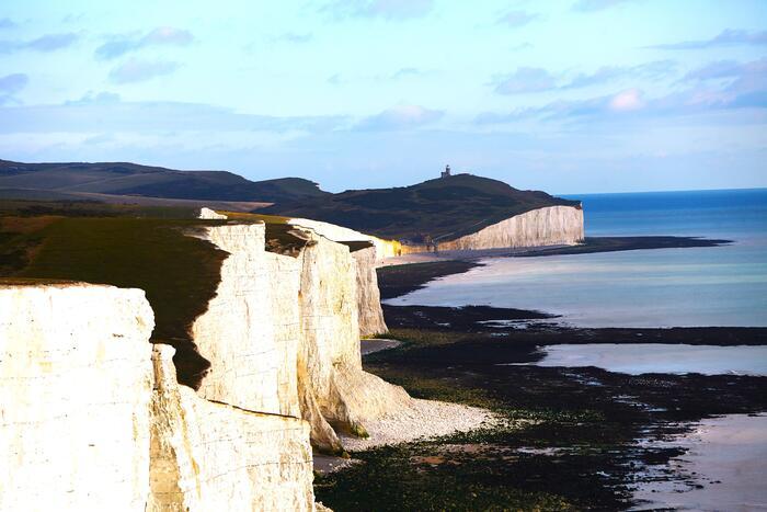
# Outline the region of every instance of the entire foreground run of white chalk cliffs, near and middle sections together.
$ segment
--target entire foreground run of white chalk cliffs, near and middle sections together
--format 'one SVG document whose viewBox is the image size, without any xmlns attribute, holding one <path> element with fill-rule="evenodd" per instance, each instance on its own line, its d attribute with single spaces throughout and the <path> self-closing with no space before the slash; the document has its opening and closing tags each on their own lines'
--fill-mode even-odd
<svg viewBox="0 0 767 512">
<path fill-rule="evenodd" d="M 149 342 L 142 291 L 0 285 L 0 510 L 311 511 L 311 445 L 380 437 L 397 414 L 436 435 L 451 428 L 419 430 L 425 410 L 468 411 L 363 369 L 360 334 L 386 331 L 375 247 L 296 227 L 281 254 L 264 224 L 217 224 L 190 235 L 229 253 L 190 329 L 210 363 L 196 391 Z"/>
</svg>

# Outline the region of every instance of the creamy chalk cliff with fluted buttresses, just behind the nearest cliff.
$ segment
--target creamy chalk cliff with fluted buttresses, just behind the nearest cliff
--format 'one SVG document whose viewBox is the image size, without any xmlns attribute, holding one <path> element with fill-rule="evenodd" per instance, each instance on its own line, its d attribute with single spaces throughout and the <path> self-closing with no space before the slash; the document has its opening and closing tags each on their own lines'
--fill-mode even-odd
<svg viewBox="0 0 767 512">
<path fill-rule="evenodd" d="M 300 416 L 321 450 L 343 447 L 340 432 L 407 406 L 410 397 L 362 369 L 365 332 L 386 329 L 373 248 L 350 252 L 313 230 L 294 257 L 267 252 L 265 227 L 208 227 L 229 252 L 208 310 L 192 331 L 211 363 L 199 395 L 251 411 Z"/>
</svg>

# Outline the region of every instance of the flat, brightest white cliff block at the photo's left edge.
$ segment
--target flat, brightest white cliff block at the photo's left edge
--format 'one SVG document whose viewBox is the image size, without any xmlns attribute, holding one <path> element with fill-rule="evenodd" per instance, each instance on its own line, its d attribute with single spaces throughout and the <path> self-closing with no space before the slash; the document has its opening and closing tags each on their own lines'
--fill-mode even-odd
<svg viewBox="0 0 767 512">
<path fill-rule="evenodd" d="M 144 510 L 153 326 L 138 289 L 0 287 L 0 510 Z"/>
</svg>

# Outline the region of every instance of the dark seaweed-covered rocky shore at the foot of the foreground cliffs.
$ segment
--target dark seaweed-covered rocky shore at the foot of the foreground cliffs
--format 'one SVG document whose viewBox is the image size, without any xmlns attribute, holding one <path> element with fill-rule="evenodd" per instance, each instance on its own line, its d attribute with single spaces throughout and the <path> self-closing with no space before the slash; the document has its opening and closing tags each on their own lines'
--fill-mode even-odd
<svg viewBox="0 0 767 512">
<path fill-rule="evenodd" d="M 379 269 L 381 297 L 476 264 Z M 385 306 L 384 312 L 389 338 L 402 345 L 365 356 L 366 371 L 416 398 L 490 409 L 500 423 L 355 447 L 360 464 L 316 482 L 318 499 L 336 511 L 651 507 L 638 493 L 642 486 L 719 485 L 680 469 L 688 448 L 671 441 L 701 420 L 767 410 L 767 377 L 507 365 L 536 362 L 540 346 L 562 343 L 762 345 L 764 328 L 574 329 L 542 311 L 491 307 Z"/>
</svg>

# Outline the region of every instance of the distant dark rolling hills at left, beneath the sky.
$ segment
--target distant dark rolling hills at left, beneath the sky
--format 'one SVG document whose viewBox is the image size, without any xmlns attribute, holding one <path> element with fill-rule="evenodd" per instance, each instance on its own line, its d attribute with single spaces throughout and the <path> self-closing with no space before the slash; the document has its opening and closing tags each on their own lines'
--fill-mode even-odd
<svg viewBox="0 0 767 512">
<path fill-rule="evenodd" d="M 268 203 L 328 195 L 317 183 L 300 178 L 250 181 L 227 171 L 176 171 L 126 162 L 0 160 L 0 189 Z"/>
</svg>

